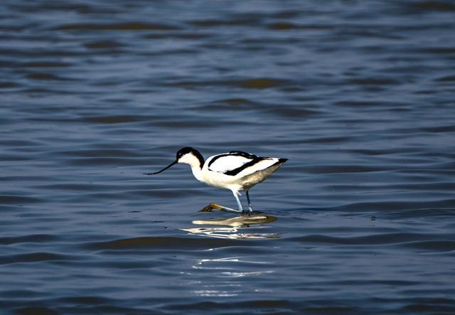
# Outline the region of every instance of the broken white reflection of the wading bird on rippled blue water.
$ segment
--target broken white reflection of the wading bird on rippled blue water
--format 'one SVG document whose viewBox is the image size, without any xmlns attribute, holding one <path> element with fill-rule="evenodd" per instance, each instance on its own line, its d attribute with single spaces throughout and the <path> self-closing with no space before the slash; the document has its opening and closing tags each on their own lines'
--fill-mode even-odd
<svg viewBox="0 0 455 315">
<path fill-rule="evenodd" d="M 225 239 L 273 239 L 279 238 L 277 233 L 259 233 L 261 230 L 270 228 L 267 223 L 277 220 L 272 215 L 252 215 L 234 218 L 219 218 L 207 220 L 194 220 L 193 224 L 208 225 L 198 228 L 181 229 L 191 235 L 216 237 Z M 210 226 L 212 225 L 212 226 Z M 215 225 L 215 226 L 213 226 Z M 250 228 L 255 225 L 255 228 Z M 252 233 L 252 232 L 255 233 Z M 267 278 L 268 274 L 274 274 L 273 262 L 267 262 L 260 257 L 253 256 L 229 256 L 223 255 L 223 251 L 210 248 L 210 254 L 201 252 L 198 259 L 191 264 L 191 270 L 185 272 L 189 277 L 197 277 L 198 286 L 193 294 L 200 297 L 237 297 L 249 292 L 245 284 L 250 284 L 252 279 L 257 283 L 259 277 Z M 203 276 L 203 277 L 202 277 Z M 256 288 L 255 291 L 271 293 L 273 289 Z"/>
</svg>

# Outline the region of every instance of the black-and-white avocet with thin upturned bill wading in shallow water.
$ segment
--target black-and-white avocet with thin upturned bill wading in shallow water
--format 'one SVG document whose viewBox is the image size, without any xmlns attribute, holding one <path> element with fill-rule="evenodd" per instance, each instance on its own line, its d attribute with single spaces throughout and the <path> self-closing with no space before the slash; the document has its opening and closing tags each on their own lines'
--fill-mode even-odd
<svg viewBox="0 0 455 315">
<path fill-rule="evenodd" d="M 204 160 L 198 150 L 186 146 L 177 151 L 176 160 L 164 169 L 154 173 L 144 173 L 144 175 L 156 175 L 176 164 L 189 164 L 191 171 L 193 171 L 193 176 L 198 181 L 202 181 L 209 186 L 232 191 L 237 201 L 238 209 L 221 207 L 222 210 L 237 213 L 247 213 L 248 211 L 252 213 L 253 208 L 248 191 L 252 186 L 268 178 L 287 160 L 277 157 L 256 156 L 244 151 L 229 151 L 210 156 Z M 240 191 L 245 191 L 248 210 L 242 208 L 242 203 L 240 203 L 239 199 L 239 196 L 241 196 Z"/>
</svg>

